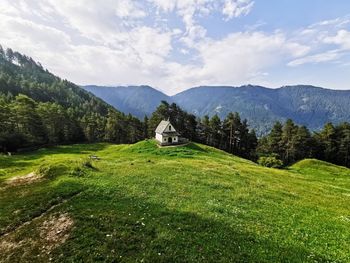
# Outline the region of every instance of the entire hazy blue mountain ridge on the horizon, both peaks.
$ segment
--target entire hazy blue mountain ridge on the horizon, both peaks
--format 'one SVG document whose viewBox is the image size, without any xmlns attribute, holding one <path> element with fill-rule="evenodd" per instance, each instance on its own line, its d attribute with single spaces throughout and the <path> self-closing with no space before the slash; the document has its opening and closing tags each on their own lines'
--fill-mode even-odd
<svg viewBox="0 0 350 263">
<path fill-rule="evenodd" d="M 350 90 L 330 90 L 309 85 L 284 86 L 270 89 L 246 85 L 194 87 L 174 96 L 149 86 L 99 87 L 86 90 L 114 107 L 138 117 L 151 114 L 161 100 L 175 102 L 199 117 L 239 112 L 258 133 L 268 131 L 277 120 L 293 119 L 312 130 L 325 123 L 350 121 Z"/>
</svg>

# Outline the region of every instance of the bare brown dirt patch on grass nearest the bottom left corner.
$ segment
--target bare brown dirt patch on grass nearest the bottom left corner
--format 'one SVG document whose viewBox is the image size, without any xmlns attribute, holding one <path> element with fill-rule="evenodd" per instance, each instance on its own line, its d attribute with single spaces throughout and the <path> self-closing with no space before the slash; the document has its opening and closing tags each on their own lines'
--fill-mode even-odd
<svg viewBox="0 0 350 263">
<path fill-rule="evenodd" d="M 40 237 L 45 241 L 42 247 L 44 252 L 49 253 L 63 244 L 68 239 L 73 225 L 74 221 L 67 213 L 51 216 L 45 220 L 40 226 Z"/>
</svg>

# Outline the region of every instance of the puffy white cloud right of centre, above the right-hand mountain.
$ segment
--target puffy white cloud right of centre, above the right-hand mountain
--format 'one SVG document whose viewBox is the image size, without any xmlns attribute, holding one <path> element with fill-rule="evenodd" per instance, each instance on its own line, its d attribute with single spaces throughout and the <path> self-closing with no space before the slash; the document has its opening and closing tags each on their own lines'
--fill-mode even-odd
<svg viewBox="0 0 350 263">
<path fill-rule="evenodd" d="M 259 72 L 287 58 L 305 54 L 307 47 L 290 43 L 283 34 L 246 32 L 230 34 L 220 41 L 207 41 L 199 46 L 202 77 L 216 84 L 237 84 L 254 81 Z M 266 74 L 263 74 L 266 75 Z"/>
</svg>

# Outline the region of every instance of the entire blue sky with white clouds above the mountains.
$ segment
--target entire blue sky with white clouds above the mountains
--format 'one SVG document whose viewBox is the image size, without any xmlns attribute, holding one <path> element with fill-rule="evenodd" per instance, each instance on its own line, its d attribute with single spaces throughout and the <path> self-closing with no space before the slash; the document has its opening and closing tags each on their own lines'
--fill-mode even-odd
<svg viewBox="0 0 350 263">
<path fill-rule="evenodd" d="M 79 85 L 350 89 L 348 0 L 0 0 L 0 44 Z"/>
</svg>

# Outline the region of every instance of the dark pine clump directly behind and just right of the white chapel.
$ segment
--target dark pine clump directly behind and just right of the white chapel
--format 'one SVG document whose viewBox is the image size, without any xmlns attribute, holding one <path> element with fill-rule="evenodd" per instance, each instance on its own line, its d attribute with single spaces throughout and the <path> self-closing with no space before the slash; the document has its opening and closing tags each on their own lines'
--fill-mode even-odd
<svg viewBox="0 0 350 263">
<path fill-rule="evenodd" d="M 168 118 L 185 138 L 244 158 L 256 159 L 258 140 L 255 131 L 249 129 L 247 120 L 241 120 L 238 113 L 229 113 L 224 120 L 218 115 L 211 118 L 204 116 L 201 119 L 182 110 L 175 103 L 162 101 L 150 119 L 146 117 L 144 120 L 148 127 L 148 137 L 154 137 L 159 122 Z"/>
</svg>

